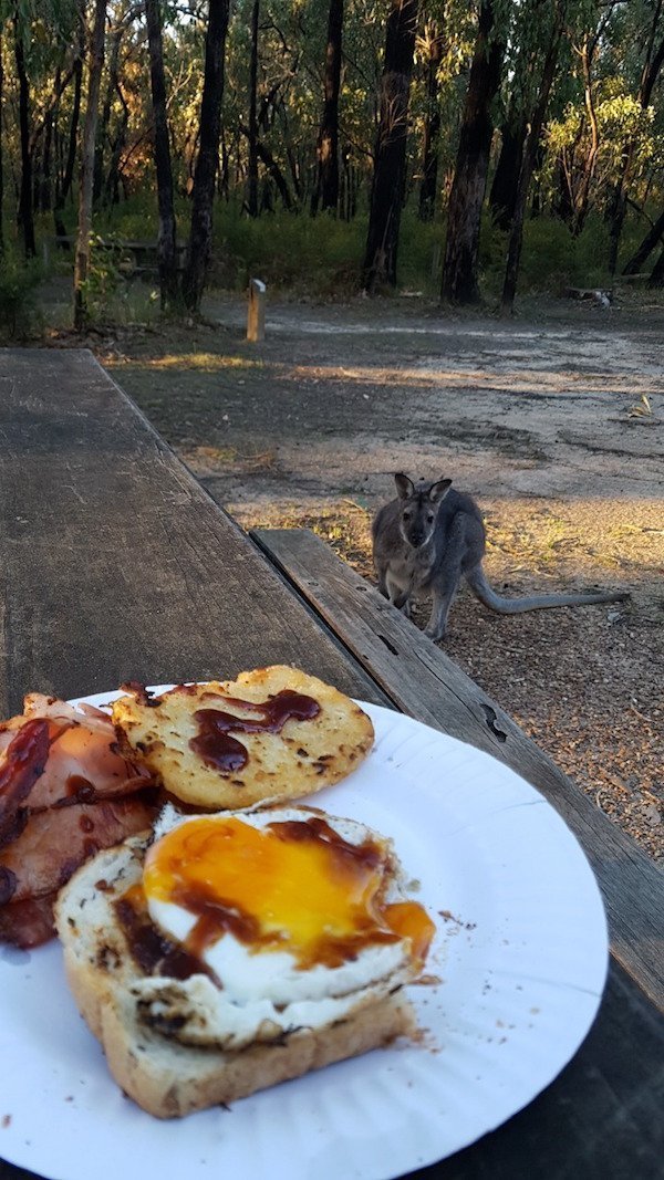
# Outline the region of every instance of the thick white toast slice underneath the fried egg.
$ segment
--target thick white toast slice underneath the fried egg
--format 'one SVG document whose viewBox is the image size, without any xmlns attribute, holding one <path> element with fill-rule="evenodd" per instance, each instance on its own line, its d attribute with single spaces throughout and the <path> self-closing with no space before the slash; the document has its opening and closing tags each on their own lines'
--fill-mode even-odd
<svg viewBox="0 0 664 1180">
<path fill-rule="evenodd" d="M 149 838 L 134 837 L 84 865 L 61 891 L 56 920 L 65 970 L 78 1008 L 100 1041 L 118 1086 L 160 1119 L 178 1117 L 299 1077 L 334 1061 L 411 1036 L 415 1020 L 402 990 L 403 971 L 364 989 L 343 1018 L 323 1027 L 286 1028 L 269 1041 L 241 1049 L 183 1043 L 178 1022 L 156 1017 L 150 985 L 191 995 L 211 984 L 206 976 L 161 981 L 142 969 L 118 902 L 142 879 Z M 168 953 L 168 945 L 162 942 Z M 414 971 L 410 970 L 410 977 Z M 408 970 L 406 970 L 408 982 Z"/>
</svg>

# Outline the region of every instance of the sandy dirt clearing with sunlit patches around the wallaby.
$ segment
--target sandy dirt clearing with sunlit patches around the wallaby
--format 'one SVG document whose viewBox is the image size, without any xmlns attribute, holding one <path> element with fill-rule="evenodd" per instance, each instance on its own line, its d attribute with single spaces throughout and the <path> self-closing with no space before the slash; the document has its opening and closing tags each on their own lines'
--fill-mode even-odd
<svg viewBox="0 0 664 1180">
<path fill-rule="evenodd" d="M 631 590 L 626 608 L 516 618 L 462 595 L 444 645 L 662 858 L 662 309 L 555 304 L 504 323 L 421 301 L 284 303 L 253 346 L 242 302 L 206 310 L 215 326 L 98 352 L 247 527 L 307 524 L 370 573 L 391 473 L 450 476 L 484 510 L 506 594 Z"/>
</svg>

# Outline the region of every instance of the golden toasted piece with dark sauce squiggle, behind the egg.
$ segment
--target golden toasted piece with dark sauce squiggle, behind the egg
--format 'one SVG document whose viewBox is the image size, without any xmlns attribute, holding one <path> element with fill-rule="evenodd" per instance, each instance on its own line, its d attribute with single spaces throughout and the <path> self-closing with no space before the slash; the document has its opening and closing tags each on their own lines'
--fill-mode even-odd
<svg viewBox="0 0 664 1180">
<path fill-rule="evenodd" d="M 312 794 L 373 743 L 371 720 L 350 697 L 284 666 L 162 696 L 137 690 L 113 703 L 113 721 L 126 753 L 170 794 L 215 811 Z"/>
</svg>

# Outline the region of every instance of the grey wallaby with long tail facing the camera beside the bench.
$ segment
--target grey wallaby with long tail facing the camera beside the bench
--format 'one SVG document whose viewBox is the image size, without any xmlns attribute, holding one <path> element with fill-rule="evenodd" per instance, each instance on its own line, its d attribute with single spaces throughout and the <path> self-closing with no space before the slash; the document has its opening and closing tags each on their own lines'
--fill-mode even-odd
<svg viewBox="0 0 664 1180">
<path fill-rule="evenodd" d="M 448 614 L 462 577 L 473 592 L 501 615 L 543 607 L 580 607 L 621 602 L 629 594 L 547 594 L 501 598 L 482 572 L 484 524 L 475 500 L 450 490 L 451 479 L 414 483 L 396 474 L 398 496 L 376 514 L 372 525 L 373 564 L 378 589 L 410 617 L 410 601 L 431 595 L 434 605 L 425 635 L 442 640 Z"/>
</svg>

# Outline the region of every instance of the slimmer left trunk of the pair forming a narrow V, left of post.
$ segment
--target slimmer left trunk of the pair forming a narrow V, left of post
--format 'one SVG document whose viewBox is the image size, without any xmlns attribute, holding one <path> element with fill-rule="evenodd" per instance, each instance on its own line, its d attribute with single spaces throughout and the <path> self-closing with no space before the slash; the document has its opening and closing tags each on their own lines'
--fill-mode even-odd
<svg viewBox="0 0 664 1180">
<path fill-rule="evenodd" d="M 157 169 L 157 205 L 160 210 L 160 234 L 157 258 L 160 267 L 160 294 L 162 312 L 177 303 L 177 250 L 176 219 L 172 199 L 172 165 L 168 131 L 167 90 L 164 71 L 164 46 L 160 0 L 145 0 L 148 24 L 148 48 L 150 54 L 150 86 L 152 92 L 152 119 L 155 123 L 155 165 Z"/>
</svg>

